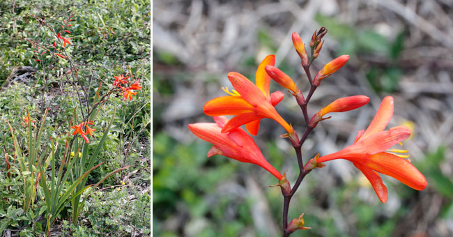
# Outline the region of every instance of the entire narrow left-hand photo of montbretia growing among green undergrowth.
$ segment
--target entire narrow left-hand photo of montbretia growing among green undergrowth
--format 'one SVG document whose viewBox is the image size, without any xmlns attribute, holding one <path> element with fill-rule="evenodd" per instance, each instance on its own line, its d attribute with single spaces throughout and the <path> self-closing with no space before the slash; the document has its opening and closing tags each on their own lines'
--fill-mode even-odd
<svg viewBox="0 0 453 237">
<path fill-rule="evenodd" d="M 148 6 L 0 3 L 0 236 L 150 234 Z"/>
</svg>

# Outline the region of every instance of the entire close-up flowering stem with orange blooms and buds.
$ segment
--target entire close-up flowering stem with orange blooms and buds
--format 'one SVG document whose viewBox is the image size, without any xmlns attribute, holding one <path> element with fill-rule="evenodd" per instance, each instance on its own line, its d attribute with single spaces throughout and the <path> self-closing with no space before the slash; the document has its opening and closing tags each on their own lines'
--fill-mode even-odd
<svg viewBox="0 0 453 237">
<path fill-rule="evenodd" d="M 215 123 L 194 123 L 189 125 L 189 129 L 194 135 L 213 144 L 213 147 L 208 151 L 208 157 L 218 154 L 240 162 L 259 165 L 278 179 L 277 186 L 281 188 L 284 200 L 282 216 L 283 236 L 289 236 L 298 229 L 310 229 L 305 227 L 303 213 L 298 218 L 288 222 L 289 204 L 291 197 L 298 190 L 305 176 L 315 168 L 325 167 L 324 163 L 329 160 L 344 159 L 353 162 L 353 165 L 368 178 L 378 199 L 383 203 L 387 201 L 387 188 L 385 188 L 378 173 L 392 176 L 415 190 L 424 190 L 427 187 L 426 178 L 410 163 L 410 160 L 407 159 L 408 155 L 401 155 L 401 153 L 408 153 L 408 151 L 392 148 L 392 146 L 401 144 L 404 139 L 409 137 L 410 129 L 405 126 L 397 126 L 385 130 L 393 115 L 394 101 L 392 96 L 387 96 L 383 99 L 381 107 L 379 107 L 369 127 L 358 132 L 355 142 L 351 146 L 347 146 L 341 151 L 332 154 L 316 155 L 304 164 L 302 160 L 302 145 L 318 123 L 325 119 L 330 119 L 330 116 L 325 117 L 326 114 L 347 112 L 362 107 L 369 102 L 369 98 L 365 95 L 339 98 L 323 107 L 309 119 L 307 106 L 318 86 L 321 85 L 323 79 L 335 73 L 349 60 L 348 55 L 339 56 L 337 59 L 326 63 L 312 77 L 310 67 L 321 52 L 324 43 L 321 40 L 326 33 L 327 29 L 325 27 L 321 27 L 319 31 L 313 33 L 309 43 L 310 55 L 307 54 L 305 45 L 298 33 L 293 33 L 292 35 L 293 45 L 300 56 L 302 68 L 305 70 L 310 84 L 310 89 L 305 94 L 306 96 L 300 91 L 291 77 L 275 67 L 275 56 L 269 55 L 266 56 L 256 70 L 256 84 L 253 84 L 238 72 L 229 72 L 228 79 L 234 90 L 230 92 L 228 88 L 222 88 L 229 95 L 214 98 L 206 102 L 203 108 L 206 115 L 213 116 Z M 305 132 L 300 138 L 291 123 L 286 122 L 275 109 L 275 106 L 284 98 L 284 93 L 280 91 L 270 93 L 271 79 L 288 89 L 302 111 L 302 116 L 305 120 Z M 121 80 L 116 83 L 121 84 Z M 226 115 L 233 116 L 233 118 L 227 119 Z M 289 138 L 299 167 L 298 178 L 292 186 L 287 180 L 286 174 L 282 175 L 275 167 L 272 167 L 264 158 L 258 146 L 256 146 L 254 139 L 240 128 L 241 125 L 245 125 L 250 135 L 255 136 L 259 132 L 261 119 L 272 119 L 286 130 L 286 134 L 281 135 L 281 137 Z"/>
</svg>

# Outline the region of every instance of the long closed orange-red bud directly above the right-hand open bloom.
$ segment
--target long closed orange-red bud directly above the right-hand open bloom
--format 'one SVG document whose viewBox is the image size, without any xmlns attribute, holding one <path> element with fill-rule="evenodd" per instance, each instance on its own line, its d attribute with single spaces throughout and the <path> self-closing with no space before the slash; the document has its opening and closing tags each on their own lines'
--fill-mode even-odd
<svg viewBox="0 0 453 237">
<path fill-rule="evenodd" d="M 316 123 L 319 121 L 323 121 L 325 114 L 328 113 L 335 113 L 335 112 L 346 112 L 349 110 L 357 109 L 358 107 L 362 107 L 363 105 L 367 105 L 369 102 L 369 98 L 365 95 L 353 95 L 344 98 L 339 98 L 334 102 L 331 102 L 328 106 L 323 107 L 323 109 L 319 110 L 318 113 L 314 114 L 312 120 L 310 120 L 310 125 L 315 126 Z"/>
</svg>

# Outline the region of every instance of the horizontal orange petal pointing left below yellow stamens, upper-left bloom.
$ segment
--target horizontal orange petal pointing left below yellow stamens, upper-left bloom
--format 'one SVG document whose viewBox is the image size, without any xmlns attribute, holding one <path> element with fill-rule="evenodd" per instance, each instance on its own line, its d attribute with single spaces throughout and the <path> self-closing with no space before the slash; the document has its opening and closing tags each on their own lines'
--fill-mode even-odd
<svg viewBox="0 0 453 237">
<path fill-rule="evenodd" d="M 203 107 L 208 116 L 237 115 L 252 112 L 254 107 L 240 96 L 227 95 L 209 100 Z"/>
</svg>

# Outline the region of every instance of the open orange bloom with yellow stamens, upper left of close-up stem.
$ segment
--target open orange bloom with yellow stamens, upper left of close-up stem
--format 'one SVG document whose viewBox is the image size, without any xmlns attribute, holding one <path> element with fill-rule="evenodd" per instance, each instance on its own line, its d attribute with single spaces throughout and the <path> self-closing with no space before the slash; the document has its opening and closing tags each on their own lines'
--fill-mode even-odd
<svg viewBox="0 0 453 237">
<path fill-rule="evenodd" d="M 256 135 L 259 121 L 268 118 L 282 125 L 289 135 L 293 134 L 293 127 L 284 121 L 274 107 L 283 99 L 284 94 L 280 91 L 269 93 L 270 77 L 264 68 L 274 64 L 275 56 L 266 56 L 256 70 L 256 85 L 238 72 L 228 73 L 228 79 L 236 91 L 231 93 L 228 88 L 224 89 L 230 95 L 210 100 L 203 108 L 204 113 L 209 116 L 236 115 L 223 127 L 222 132 L 229 132 L 246 124 L 250 134 Z"/>
</svg>

